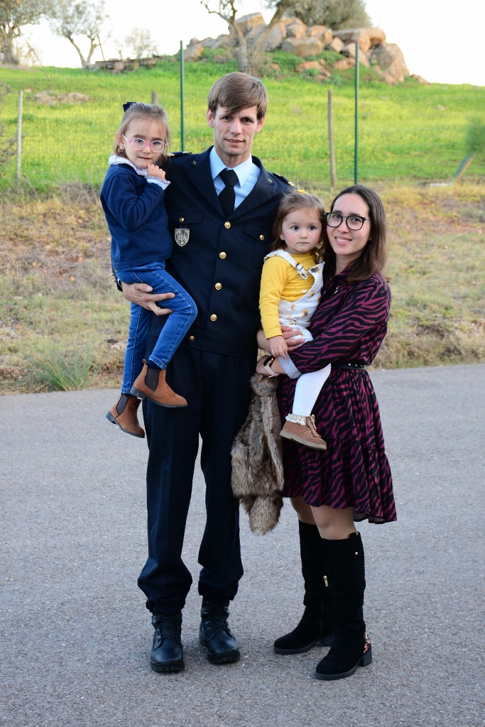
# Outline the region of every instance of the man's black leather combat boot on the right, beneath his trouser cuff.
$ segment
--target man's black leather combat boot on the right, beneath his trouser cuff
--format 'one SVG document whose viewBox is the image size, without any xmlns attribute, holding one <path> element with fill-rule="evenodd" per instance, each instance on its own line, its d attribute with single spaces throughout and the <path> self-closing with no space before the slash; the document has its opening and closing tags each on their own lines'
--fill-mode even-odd
<svg viewBox="0 0 485 727">
<path fill-rule="evenodd" d="M 211 664 L 237 662 L 241 657 L 237 643 L 228 624 L 229 601 L 216 603 L 202 599 L 199 640 L 207 648 Z"/>
</svg>

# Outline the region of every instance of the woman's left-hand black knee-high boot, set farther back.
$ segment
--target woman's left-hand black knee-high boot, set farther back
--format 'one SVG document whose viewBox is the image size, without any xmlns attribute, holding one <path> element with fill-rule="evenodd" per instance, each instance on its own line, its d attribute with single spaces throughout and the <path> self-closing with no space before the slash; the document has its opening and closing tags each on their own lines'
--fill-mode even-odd
<svg viewBox="0 0 485 727">
<path fill-rule="evenodd" d="M 333 640 L 332 598 L 329 594 L 321 537 L 316 525 L 298 521 L 298 528 L 302 575 L 305 581 L 305 612 L 292 632 L 276 639 L 276 654 L 302 654 L 316 643 L 330 646 Z"/>
</svg>

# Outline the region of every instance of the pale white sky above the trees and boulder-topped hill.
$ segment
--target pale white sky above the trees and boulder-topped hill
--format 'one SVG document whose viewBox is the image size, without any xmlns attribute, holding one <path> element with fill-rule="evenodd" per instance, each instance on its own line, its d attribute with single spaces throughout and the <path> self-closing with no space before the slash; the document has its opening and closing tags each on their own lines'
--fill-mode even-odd
<svg viewBox="0 0 485 727">
<path fill-rule="evenodd" d="M 133 28 L 149 28 L 161 53 L 177 52 L 197 37 L 216 37 L 227 32 L 227 25 L 216 15 L 209 15 L 199 0 L 138 0 L 137 11 L 131 0 L 106 0 L 106 22 L 113 39 L 123 42 Z M 257 0 L 241 2 L 241 12 L 256 12 L 264 7 Z M 366 9 L 373 25 L 385 31 L 389 43 L 397 43 L 404 52 L 410 73 L 419 73 L 428 81 L 446 84 L 485 86 L 484 52 L 480 36 L 471 28 L 484 28 L 485 1 L 462 0 L 367 0 Z M 263 13 L 266 20 L 270 14 Z M 135 17 L 136 16 L 136 17 Z M 44 65 L 79 66 L 79 56 L 68 40 L 54 36 L 48 23 L 25 28 L 31 43 L 41 52 Z M 79 44 L 87 53 L 87 40 Z M 115 57 L 113 40 L 105 44 L 105 57 Z M 99 50 L 93 60 L 100 59 Z"/>
</svg>

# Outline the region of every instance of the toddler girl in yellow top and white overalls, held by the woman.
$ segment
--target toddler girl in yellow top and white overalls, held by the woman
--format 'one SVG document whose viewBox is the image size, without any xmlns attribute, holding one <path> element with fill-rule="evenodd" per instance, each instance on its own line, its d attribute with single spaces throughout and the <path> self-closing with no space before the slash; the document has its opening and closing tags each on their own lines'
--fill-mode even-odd
<svg viewBox="0 0 485 727">
<path fill-rule="evenodd" d="M 262 328 L 272 354 L 266 366 L 277 356 L 286 357 L 288 348 L 281 326 L 300 329 L 305 341 L 313 338 L 308 326 L 323 284 L 324 263 L 316 262 L 323 229 L 324 206 L 318 197 L 294 191 L 281 200 L 273 228 L 273 252 L 265 257 L 261 278 Z M 282 437 L 315 449 L 326 449 L 311 411 L 329 373 L 330 364 L 300 376 L 293 411 L 286 417 Z"/>
</svg>

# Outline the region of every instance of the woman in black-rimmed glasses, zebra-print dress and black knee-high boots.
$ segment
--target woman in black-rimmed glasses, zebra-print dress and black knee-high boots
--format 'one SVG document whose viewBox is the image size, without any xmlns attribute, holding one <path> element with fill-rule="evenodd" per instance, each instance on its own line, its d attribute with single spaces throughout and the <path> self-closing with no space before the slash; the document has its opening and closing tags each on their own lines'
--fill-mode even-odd
<svg viewBox="0 0 485 727">
<path fill-rule="evenodd" d="M 284 441 L 284 495 L 298 515 L 305 612 L 294 631 L 276 640 L 275 651 L 298 654 L 318 641 L 332 643 L 316 676 L 333 680 L 372 662 L 362 610 L 364 547 L 353 523 L 396 520 L 377 399 L 364 369 L 385 337 L 390 307 L 382 276 L 385 212 L 374 191 L 355 185 L 334 199 L 324 260 L 313 340 L 285 358 L 260 359 L 257 372 L 287 374 L 279 390 L 283 419 L 292 411 L 297 378 L 332 364 L 313 409 L 327 449 Z M 258 342 L 266 348 L 262 332 Z"/>
</svg>

